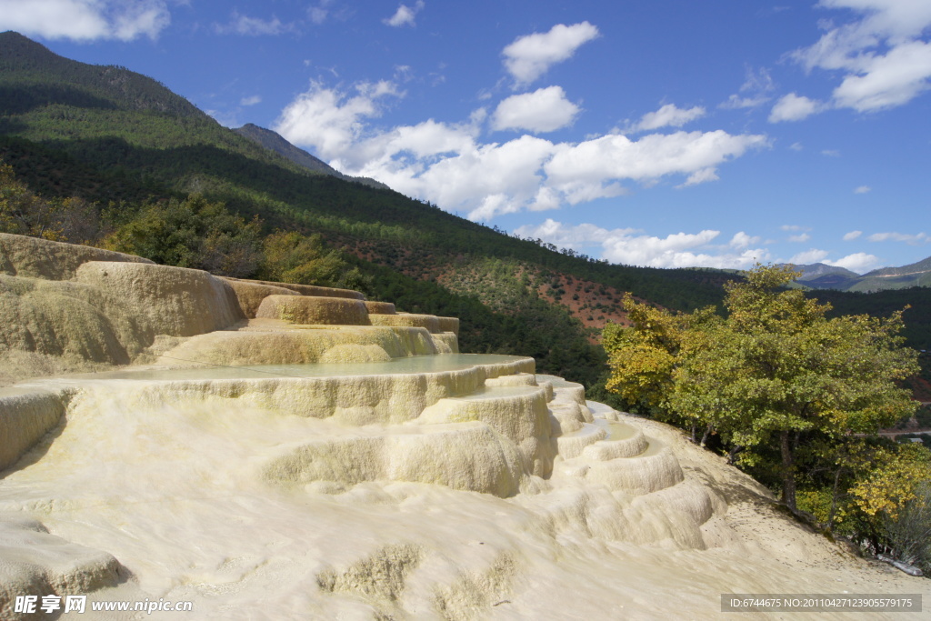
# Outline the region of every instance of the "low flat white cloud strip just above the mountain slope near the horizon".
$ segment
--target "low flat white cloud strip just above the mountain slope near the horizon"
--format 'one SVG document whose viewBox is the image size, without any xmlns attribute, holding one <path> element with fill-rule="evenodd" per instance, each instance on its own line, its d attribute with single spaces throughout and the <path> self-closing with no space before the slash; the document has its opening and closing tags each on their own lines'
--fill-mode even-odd
<svg viewBox="0 0 931 621">
<path fill-rule="evenodd" d="M 601 258 L 627 265 L 742 269 L 769 259 L 764 249 L 735 252 L 711 245 L 721 235 L 720 231 L 712 230 L 658 237 L 638 235 L 641 232 L 636 229 L 608 230 L 594 224 L 568 225 L 547 219 L 537 226 L 521 226 L 515 233 L 543 239 L 562 248 L 600 246 Z"/>
</svg>

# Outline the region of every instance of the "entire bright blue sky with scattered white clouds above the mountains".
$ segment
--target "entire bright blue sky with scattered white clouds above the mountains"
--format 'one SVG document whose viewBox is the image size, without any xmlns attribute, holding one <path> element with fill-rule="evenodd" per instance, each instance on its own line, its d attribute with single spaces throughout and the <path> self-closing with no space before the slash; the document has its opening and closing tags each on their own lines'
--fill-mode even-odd
<svg viewBox="0 0 931 621">
<path fill-rule="evenodd" d="M 0 0 L 0 30 L 614 263 L 931 255 L 928 0 Z"/>
</svg>

